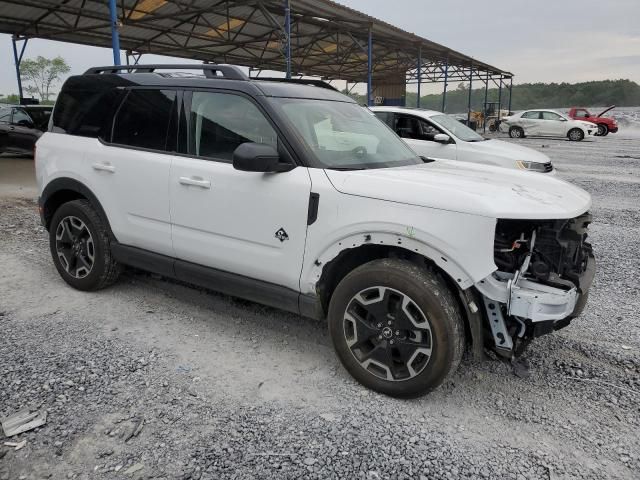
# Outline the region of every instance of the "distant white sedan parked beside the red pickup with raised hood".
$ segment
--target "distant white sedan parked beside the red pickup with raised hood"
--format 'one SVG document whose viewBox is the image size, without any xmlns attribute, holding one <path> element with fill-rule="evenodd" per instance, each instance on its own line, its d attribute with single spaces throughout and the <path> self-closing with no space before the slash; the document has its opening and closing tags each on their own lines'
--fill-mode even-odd
<svg viewBox="0 0 640 480">
<path fill-rule="evenodd" d="M 598 126 L 591 122 L 573 120 L 555 110 L 525 110 L 500 122 L 500 131 L 509 132 L 511 138 L 564 137 L 574 142 L 598 133 Z"/>
</svg>

